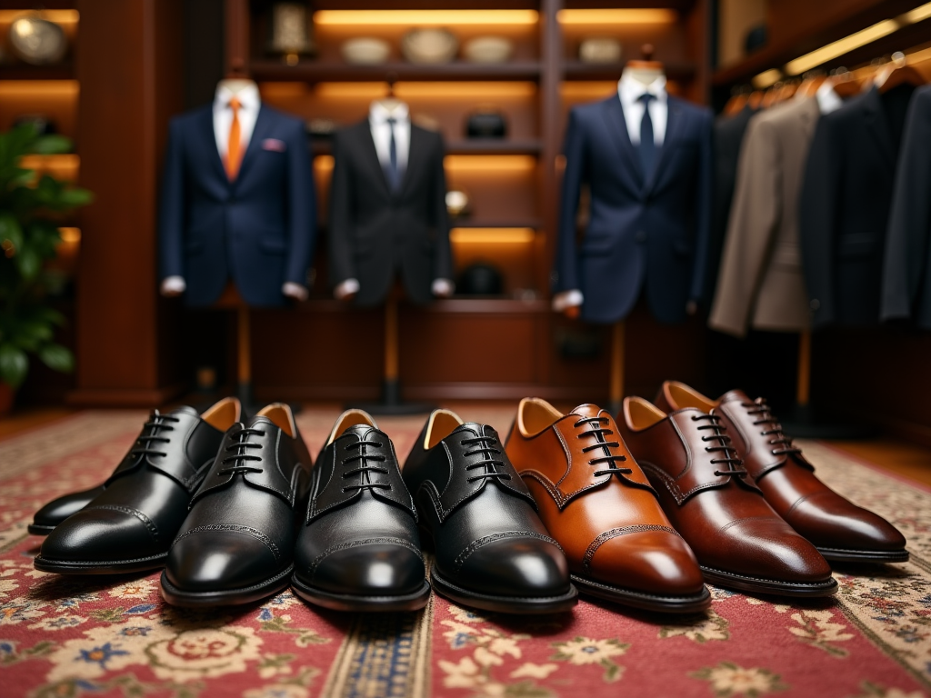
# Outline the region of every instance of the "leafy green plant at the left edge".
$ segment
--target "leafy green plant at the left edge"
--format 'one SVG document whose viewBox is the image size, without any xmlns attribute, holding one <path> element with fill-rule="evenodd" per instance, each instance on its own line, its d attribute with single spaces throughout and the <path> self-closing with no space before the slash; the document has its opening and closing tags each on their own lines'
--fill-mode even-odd
<svg viewBox="0 0 931 698">
<path fill-rule="evenodd" d="M 49 304 L 45 265 L 57 254 L 62 214 L 91 195 L 20 167 L 23 155 L 70 150 L 69 139 L 40 136 L 32 124 L 0 133 L 0 413 L 26 379 L 30 355 L 51 369 L 74 369 L 72 353 L 54 342 L 64 317 Z"/>
</svg>

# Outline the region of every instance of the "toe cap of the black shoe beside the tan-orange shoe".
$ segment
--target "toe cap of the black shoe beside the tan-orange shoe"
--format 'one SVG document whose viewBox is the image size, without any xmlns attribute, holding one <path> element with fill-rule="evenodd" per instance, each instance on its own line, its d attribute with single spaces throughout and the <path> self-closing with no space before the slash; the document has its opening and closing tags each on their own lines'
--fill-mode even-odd
<svg viewBox="0 0 931 698">
<path fill-rule="evenodd" d="M 569 590 L 569 570 L 562 551 L 536 538 L 508 538 L 481 545 L 453 572 L 453 584 L 490 596 L 557 597 Z"/>
</svg>

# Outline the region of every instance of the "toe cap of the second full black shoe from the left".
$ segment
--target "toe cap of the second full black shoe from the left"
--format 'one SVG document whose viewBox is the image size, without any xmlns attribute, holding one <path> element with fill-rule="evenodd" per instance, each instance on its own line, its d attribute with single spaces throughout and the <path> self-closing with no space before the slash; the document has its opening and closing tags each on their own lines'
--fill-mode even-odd
<svg viewBox="0 0 931 698">
<path fill-rule="evenodd" d="M 262 541 L 235 531 L 202 531 L 171 546 L 165 576 L 188 592 L 229 591 L 267 581 L 283 561 Z"/>
</svg>

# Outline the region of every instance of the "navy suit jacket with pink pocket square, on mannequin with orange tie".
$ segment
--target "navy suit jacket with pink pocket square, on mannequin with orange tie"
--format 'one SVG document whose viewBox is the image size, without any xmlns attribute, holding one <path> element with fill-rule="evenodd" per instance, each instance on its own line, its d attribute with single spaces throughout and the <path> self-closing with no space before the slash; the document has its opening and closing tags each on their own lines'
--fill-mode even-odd
<svg viewBox="0 0 931 698">
<path fill-rule="evenodd" d="M 236 181 L 217 152 L 211 106 L 171 120 L 159 211 L 161 278 L 187 283 L 209 305 L 232 278 L 252 306 L 286 302 L 305 286 L 317 235 L 314 175 L 304 124 L 263 104 Z"/>
</svg>

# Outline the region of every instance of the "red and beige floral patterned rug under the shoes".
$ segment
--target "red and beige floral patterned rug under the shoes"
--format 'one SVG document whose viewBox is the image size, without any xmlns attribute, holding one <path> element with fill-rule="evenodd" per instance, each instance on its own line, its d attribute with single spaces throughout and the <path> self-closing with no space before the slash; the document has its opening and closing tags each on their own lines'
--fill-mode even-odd
<svg viewBox="0 0 931 698">
<path fill-rule="evenodd" d="M 455 406 L 453 406 L 455 407 Z M 299 423 L 316 453 L 337 409 Z M 466 419 L 506 432 L 509 409 Z M 176 610 L 158 577 L 33 570 L 36 508 L 104 479 L 145 414 L 88 411 L 0 443 L 0 696 L 359 698 L 764 695 L 919 698 L 931 691 L 931 492 L 819 443 L 820 477 L 892 520 L 911 562 L 843 569 L 834 600 L 782 604 L 712 587 L 676 619 L 584 600 L 572 613 L 479 615 L 434 596 L 419 613 L 320 611 L 290 593 Z M 406 454 L 423 418 L 380 420 Z M 403 455 L 402 455 L 403 457 Z"/>
</svg>

